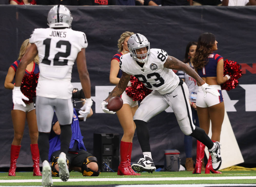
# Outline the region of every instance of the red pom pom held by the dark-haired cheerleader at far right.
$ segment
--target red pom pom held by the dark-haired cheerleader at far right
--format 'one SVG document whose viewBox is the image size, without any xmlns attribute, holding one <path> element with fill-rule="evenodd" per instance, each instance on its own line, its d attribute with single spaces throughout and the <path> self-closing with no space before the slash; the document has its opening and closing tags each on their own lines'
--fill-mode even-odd
<svg viewBox="0 0 256 187">
<path fill-rule="evenodd" d="M 226 59 L 224 61 L 224 71 L 223 76 L 230 75 L 231 78 L 225 83 L 221 84 L 221 90 L 232 90 L 238 85 L 238 79 L 242 76 L 242 70 L 237 62 L 229 61 Z"/>
</svg>

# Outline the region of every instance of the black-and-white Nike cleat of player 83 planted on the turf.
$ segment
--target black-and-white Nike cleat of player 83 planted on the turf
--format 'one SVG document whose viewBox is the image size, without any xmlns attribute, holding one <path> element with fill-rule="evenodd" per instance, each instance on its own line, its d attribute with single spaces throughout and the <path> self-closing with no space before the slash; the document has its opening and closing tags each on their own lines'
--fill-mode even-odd
<svg viewBox="0 0 256 187">
<path fill-rule="evenodd" d="M 149 157 L 140 158 L 137 163 L 132 164 L 132 169 L 136 172 L 147 171 L 148 173 L 156 170 L 153 160 Z"/>
</svg>

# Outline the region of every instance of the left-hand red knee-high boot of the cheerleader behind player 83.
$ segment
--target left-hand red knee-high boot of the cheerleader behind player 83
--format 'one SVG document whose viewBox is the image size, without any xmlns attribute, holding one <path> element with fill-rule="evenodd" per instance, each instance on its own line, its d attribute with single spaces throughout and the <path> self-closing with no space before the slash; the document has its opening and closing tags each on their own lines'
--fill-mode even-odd
<svg viewBox="0 0 256 187">
<path fill-rule="evenodd" d="M 134 175 L 129 169 L 129 165 L 131 167 L 131 163 L 128 162 L 130 144 L 131 142 L 124 142 L 124 141 L 121 141 L 120 143 L 121 162 L 118 166 L 118 171 L 117 171 L 118 175 Z"/>
</svg>

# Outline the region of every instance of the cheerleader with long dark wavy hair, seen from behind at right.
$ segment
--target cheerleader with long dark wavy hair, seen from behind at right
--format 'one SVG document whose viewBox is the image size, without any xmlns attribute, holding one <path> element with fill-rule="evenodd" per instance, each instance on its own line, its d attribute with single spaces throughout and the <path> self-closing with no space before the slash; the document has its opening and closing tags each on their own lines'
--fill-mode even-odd
<svg viewBox="0 0 256 187">
<path fill-rule="evenodd" d="M 223 57 L 213 53 L 218 50 L 215 36 L 211 33 L 201 34 L 198 39 L 196 53 L 193 58 L 194 68 L 198 75 L 209 85 L 214 87 L 220 93 L 219 97 L 207 94 L 204 98 L 204 92 L 199 86 L 196 99 L 196 109 L 199 119 L 200 128 L 204 129 L 206 134 L 209 133 L 210 121 L 212 131 L 212 141 L 220 141 L 221 125 L 224 119 L 224 102 L 221 93 L 221 86 L 230 79 L 229 75 L 223 76 Z M 197 140 L 197 158 L 196 166 L 193 173 L 201 173 L 202 159 L 204 158 L 205 145 Z M 205 167 L 205 173 L 221 173 L 212 169 L 211 156 L 209 155 L 208 163 Z"/>
</svg>

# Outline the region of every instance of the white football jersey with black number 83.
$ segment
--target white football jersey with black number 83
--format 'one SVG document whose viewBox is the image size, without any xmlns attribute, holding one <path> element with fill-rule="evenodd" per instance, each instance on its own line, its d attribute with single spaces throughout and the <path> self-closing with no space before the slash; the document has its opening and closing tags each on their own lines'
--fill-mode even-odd
<svg viewBox="0 0 256 187">
<path fill-rule="evenodd" d="M 130 53 L 127 53 L 120 57 L 119 66 L 122 71 L 144 83 L 147 88 L 166 94 L 172 92 L 179 84 L 179 77 L 173 70 L 164 68 L 167 57 L 167 52 L 162 49 L 150 49 L 147 62 L 140 67 Z"/>
</svg>

